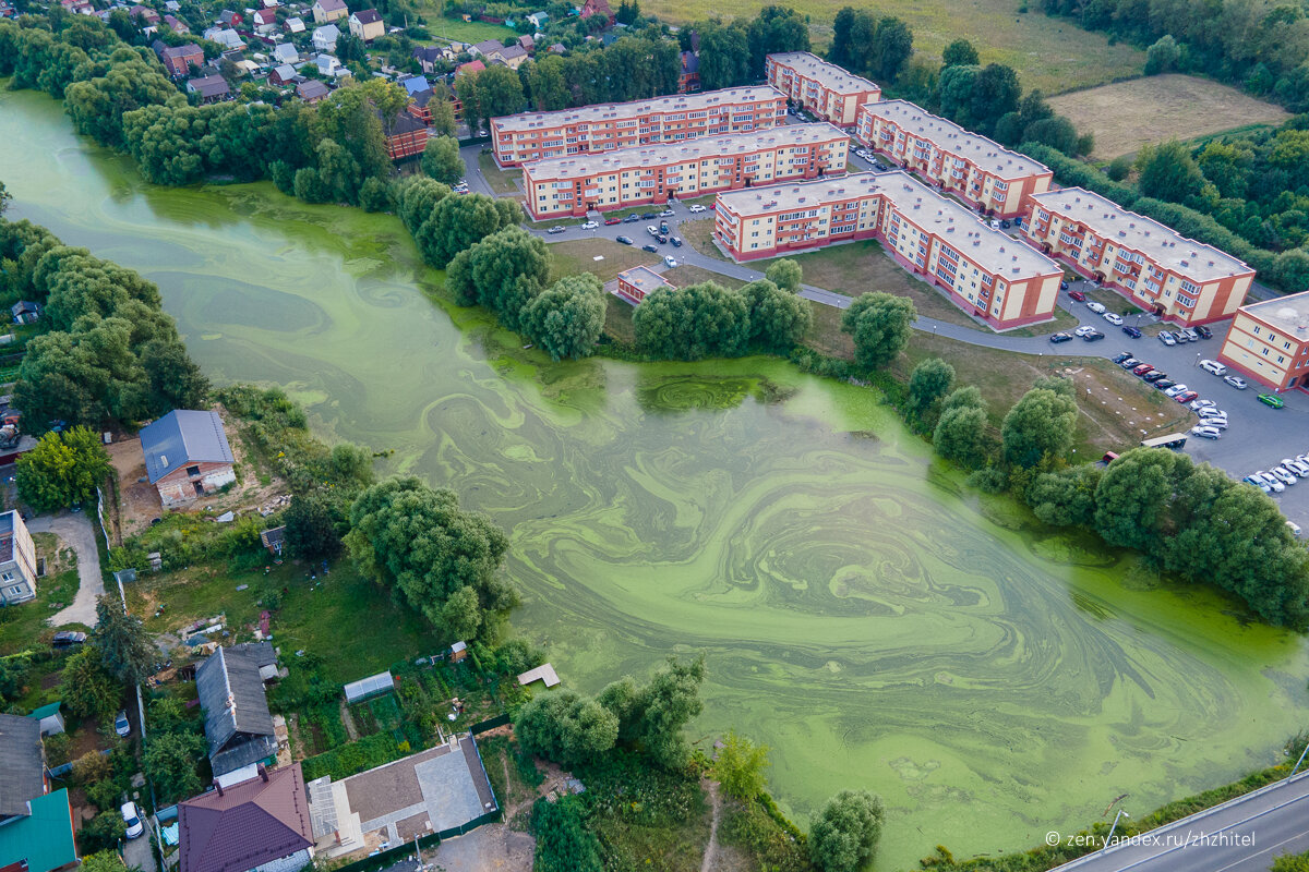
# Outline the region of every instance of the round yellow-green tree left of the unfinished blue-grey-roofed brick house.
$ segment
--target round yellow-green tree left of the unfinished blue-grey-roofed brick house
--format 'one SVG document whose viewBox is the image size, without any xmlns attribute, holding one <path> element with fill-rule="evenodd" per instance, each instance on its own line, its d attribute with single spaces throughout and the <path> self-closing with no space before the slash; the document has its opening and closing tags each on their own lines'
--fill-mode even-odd
<svg viewBox="0 0 1309 872">
<path fill-rule="evenodd" d="M 37 511 L 54 511 L 96 497 L 109 477 L 109 454 L 88 428 L 47 433 L 17 463 L 18 495 Z"/>
</svg>

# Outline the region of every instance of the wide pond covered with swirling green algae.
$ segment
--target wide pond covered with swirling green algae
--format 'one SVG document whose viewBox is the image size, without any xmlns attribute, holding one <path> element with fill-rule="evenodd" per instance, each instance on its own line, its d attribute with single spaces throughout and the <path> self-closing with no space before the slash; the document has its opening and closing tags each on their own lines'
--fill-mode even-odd
<svg viewBox="0 0 1309 872">
<path fill-rule="evenodd" d="M 511 531 L 514 625 L 597 690 L 706 651 L 704 739 L 772 748 L 801 821 L 867 787 L 878 869 L 1024 848 L 1274 758 L 1305 646 L 979 499 L 867 390 L 775 360 L 551 365 L 425 293 L 399 222 L 169 190 L 0 93 L 14 213 L 158 282 L 216 380 L 285 386 Z"/>
</svg>

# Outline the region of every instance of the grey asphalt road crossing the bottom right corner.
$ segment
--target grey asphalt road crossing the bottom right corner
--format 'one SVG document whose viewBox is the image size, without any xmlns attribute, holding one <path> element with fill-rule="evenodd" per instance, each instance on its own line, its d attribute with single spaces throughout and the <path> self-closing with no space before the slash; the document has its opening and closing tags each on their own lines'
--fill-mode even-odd
<svg viewBox="0 0 1309 872">
<path fill-rule="evenodd" d="M 1058 869 L 1266 872 L 1278 856 L 1306 850 L 1309 773 L 1301 773 Z"/>
</svg>

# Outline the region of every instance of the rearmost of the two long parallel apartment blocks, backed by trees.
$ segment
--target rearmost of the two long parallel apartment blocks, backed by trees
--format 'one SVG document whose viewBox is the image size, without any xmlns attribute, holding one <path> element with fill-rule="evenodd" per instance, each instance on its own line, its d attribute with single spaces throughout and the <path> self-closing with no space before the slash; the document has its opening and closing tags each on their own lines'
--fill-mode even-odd
<svg viewBox="0 0 1309 872">
<path fill-rule="evenodd" d="M 767 85 L 724 88 L 492 118 L 491 146 L 500 166 L 521 166 L 569 154 L 763 131 L 785 116 L 787 99 Z"/>
</svg>

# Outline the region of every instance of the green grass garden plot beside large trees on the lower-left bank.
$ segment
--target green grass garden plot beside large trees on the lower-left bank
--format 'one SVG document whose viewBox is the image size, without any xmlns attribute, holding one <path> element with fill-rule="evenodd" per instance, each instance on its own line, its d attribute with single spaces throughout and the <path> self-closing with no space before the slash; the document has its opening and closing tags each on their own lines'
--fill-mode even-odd
<svg viewBox="0 0 1309 872">
<path fill-rule="evenodd" d="M 245 586 L 245 590 L 237 590 Z M 283 656 L 305 650 L 322 658 L 322 673 L 331 681 L 352 681 L 436 650 L 439 639 L 427 620 L 397 607 L 390 591 L 373 584 L 348 562 L 332 566 L 317 582 L 304 566 L 287 563 L 262 570 L 233 573 L 225 566 L 200 566 L 177 573 L 144 575 L 127 588 L 134 614 L 148 616 L 152 633 L 178 628 L 220 612 L 237 641 L 250 638 L 249 626 L 259 618 L 263 597 L 281 594 L 281 608 L 272 614 L 274 645 Z M 164 605 L 162 616 L 156 608 Z"/>
</svg>

